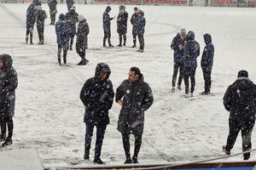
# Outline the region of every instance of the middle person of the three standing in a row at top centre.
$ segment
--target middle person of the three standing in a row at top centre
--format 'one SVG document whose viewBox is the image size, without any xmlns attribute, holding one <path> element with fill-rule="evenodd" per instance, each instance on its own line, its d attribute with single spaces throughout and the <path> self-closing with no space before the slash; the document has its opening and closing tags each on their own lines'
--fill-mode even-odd
<svg viewBox="0 0 256 170">
<path fill-rule="evenodd" d="M 127 32 L 127 20 L 128 13 L 125 11 L 125 5 L 119 6 L 119 15 L 117 17 L 117 32 L 119 33 L 119 45 L 118 47 L 122 47 L 122 37 L 124 38 L 123 45 L 126 45 L 126 32 Z"/>
</svg>

